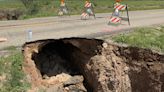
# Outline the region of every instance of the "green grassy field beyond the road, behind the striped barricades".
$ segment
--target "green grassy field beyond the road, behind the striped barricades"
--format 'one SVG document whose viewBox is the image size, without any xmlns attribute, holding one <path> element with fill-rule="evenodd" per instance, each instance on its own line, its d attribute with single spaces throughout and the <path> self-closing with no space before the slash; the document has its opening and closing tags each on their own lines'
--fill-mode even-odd
<svg viewBox="0 0 164 92">
<path fill-rule="evenodd" d="M 113 11 L 115 0 L 91 0 L 96 13 Z M 129 10 L 164 9 L 163 0 L 123 0 L 128 4 Z M 71 14 L 81 14 L 84 0 L 66 0 Z M 60 0 L 0 0 L 0 10 L 21 10 L 21 19 L 32 17 L 56 16 Z"/>
</svg>

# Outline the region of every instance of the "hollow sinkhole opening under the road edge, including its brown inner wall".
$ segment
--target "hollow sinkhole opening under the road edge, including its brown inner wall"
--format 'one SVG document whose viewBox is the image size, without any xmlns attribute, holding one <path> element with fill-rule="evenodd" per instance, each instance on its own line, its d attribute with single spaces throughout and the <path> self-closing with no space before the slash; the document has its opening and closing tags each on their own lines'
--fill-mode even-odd
<svg viewBox="0 0 164 92">
<path fill-rule="evenodd" d="M 88 74 L 85 68 L 90 58 L 97 55 L 102 43 L 102 40 L 81 38 L 47 40 L 44 43 L 40 41 L 35 44 L 37 48 L 31 47 L 37 49 L 31 52 L 31 60 L 34 61 L 41 80 L 63 73 L 71 76 L 82 75 L 83 86 L 88 92 L 92 92 L 93 87 L 86 79 Z"/>
</svg>

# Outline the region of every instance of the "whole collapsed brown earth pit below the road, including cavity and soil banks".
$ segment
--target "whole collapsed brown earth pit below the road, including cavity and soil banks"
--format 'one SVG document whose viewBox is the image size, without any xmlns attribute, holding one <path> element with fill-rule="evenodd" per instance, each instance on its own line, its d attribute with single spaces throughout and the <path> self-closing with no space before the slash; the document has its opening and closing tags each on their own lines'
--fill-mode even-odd
<svg viewBox="0 0 164 92">
<path fill-rule="evenodd" d="M 162 92 L 164 55 L 86 38 L 25 43 L 23 70 L 47 92 Z"/>
</svg>

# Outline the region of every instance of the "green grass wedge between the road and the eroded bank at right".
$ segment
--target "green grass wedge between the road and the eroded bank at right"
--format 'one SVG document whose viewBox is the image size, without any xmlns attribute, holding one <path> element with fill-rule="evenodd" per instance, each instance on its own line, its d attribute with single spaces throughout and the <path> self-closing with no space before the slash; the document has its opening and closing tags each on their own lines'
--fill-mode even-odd
<svg viewBox="0 0 164 92">
<path fill-rule="evenodd" d="M 129 34 L 112 37 L 115 42 L 164 52 L 164 26 L 136 28 Z"/>
</svg>

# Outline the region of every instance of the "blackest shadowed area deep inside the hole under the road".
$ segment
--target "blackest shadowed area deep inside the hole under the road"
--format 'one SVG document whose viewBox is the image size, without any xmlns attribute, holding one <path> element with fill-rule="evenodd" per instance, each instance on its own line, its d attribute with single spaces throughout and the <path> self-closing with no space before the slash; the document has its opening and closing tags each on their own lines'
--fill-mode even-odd
<svg viewBox="0 0 164 92">
<path fill-rule="evenodd" d="M 33 54 L 32 59 L 42 76 L 51 77 L 61 73 L 79 75 L 81 73 L 78 67 L 71 60 L 71 54 L 75 50 L 78 48 L 59 40 L 43 46 L 39 53 Z"/>
</svg>

